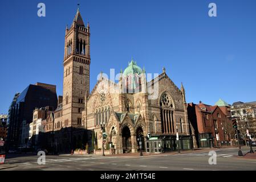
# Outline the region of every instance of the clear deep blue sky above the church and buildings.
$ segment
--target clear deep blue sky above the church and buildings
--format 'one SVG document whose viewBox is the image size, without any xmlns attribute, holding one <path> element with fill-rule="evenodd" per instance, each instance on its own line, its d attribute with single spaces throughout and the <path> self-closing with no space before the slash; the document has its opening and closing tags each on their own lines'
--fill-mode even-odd
<svg viewBox="0 0 256 182">
<path fill-rule="evenodd" d="M 37 16 L 39 2 L 46 17 Z M 217 17 L 208 5 L 217 5 Z M 29 84 L 57 86 L 62 95 L 64 32 L 78 1 L 1 1 L 0 113 Z M 91 89 L 100 71 L 162 67 L 187 102 L 255 101 L 256 1 L 80 1 L 91 27 Z"/>
</svg>

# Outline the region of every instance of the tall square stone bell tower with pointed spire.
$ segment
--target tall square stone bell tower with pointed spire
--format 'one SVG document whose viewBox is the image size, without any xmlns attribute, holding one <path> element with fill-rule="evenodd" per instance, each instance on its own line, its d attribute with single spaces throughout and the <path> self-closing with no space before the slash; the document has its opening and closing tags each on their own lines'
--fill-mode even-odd
<svg viewBox="0 0 256 182">
<path fill-rule="evenodd" d="M 80 11 L 66 27 L 64 46 L 62 127 L 81 126 L 84 96 L 90 93 L 90 26 Z"/>
</svg>

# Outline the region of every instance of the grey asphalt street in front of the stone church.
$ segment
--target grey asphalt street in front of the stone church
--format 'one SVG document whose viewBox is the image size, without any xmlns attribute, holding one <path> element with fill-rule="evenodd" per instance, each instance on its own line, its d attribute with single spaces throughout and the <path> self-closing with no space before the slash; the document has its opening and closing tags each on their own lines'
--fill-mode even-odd
<svg viewBox="0 0 256 182">
<path fill-rule="evenodd" d="M 163 170 L 256 170 L 256 159 L 245 159 L 237 157 L 237 148 L 225 148 L 216 150 L 216 165 L 210 165 L 209 152 L 189 152 L 187 154 L 163 154 L 151 156 L 46 156 L 46 164 L 37 163 L 38 156 L 9 155 L 7 163 L 15 164 L 12 170 L 60 170 L 60 171 L 163 171 Z M 242 148 L 246 153 L 249 148 Z"/>
</svg>

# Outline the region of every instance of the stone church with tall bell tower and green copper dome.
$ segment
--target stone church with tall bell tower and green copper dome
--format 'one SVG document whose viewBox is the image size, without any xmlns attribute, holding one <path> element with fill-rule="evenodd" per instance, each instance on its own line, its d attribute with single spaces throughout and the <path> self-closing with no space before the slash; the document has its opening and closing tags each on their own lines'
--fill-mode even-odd
<svg viewBox="0 0 256 182">
<path fill-rule="evenodd" d="M 68 131 L 72 128 L 91 131 L 85 137 L 91 146 L 96 150 L 110 147 L 115 154 L 137 152 L 140 148 L 146 152 L 193 148 L 184 86 L 178 88 L 165 68 L 147 82 L 145 69 L 132 59 L 119 73 L 118 82 L 101 73 L 90 92 L 90 31 L 78 9 L 71 27 L 66 28 L 63 101 L 58 106 L 59 123 L 51 125 L 54 131 L 67 130 L 67 134 L 55 137 L 55 143 L 68 146 L 71 134 L 72 148 L 80 147 L 84 134 L 77 132 L 76 136 L 75 130 Z"/>
</svg>

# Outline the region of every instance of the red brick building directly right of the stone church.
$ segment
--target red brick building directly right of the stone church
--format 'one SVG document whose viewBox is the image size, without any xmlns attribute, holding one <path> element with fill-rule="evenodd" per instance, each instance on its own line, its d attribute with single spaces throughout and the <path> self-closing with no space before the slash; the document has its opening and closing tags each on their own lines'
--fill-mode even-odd
<svg viewBox="0 0 256 182">
<path fill-rule="evenodd" d="M 196 135 L 198 147 L 213 147 L 224 144 L 230 144 L 230 135 L 227 129 L 230 129 L 231 120 L 228 118 L 229 105 L 215 106 L 203 104 L 188 104 L 188 118 L 193 126 Z"/>
</svg>

